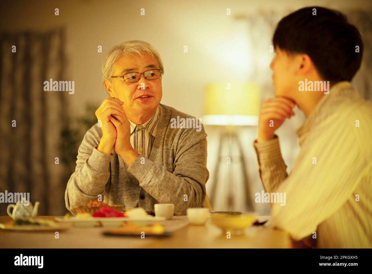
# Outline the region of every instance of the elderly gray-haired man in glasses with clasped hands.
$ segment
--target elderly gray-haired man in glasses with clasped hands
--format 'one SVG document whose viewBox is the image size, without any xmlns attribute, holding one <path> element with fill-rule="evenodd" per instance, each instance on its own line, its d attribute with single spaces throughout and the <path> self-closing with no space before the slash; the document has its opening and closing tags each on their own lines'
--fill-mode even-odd
<svg viewBox="0 0 372 274">
<path fill-rule="evenodd" d="M 163 74 L 159 53 L 146 42 L 127 41 L 106 55 L 102 84 L 110 97 L 79 147 L 65 192 L 71 213 L 99 198 L 151 212 L 171 203 L 176 215 L 203 207 L 207 134 L 198 119 L 160 103 Z M 174 122 L 180 118 L 194 123 Z"/>
</svg>

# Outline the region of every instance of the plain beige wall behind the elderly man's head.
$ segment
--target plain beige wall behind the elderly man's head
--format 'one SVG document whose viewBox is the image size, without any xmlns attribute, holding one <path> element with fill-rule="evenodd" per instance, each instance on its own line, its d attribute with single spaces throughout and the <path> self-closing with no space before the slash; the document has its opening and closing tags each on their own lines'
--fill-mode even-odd
<svg viewBox="0 0 372 274">
<path fill-rule="evenodd" d="M 71 115 L 79 114 L 84 102 L 100 102 L 105 98 L 100 85 L 100 64 L 109 48 L 140 39 L 154 45 L 163 58 L 161 102 L 196 117 L 202 115 L 205 85 L 219 80 L 226 71 L 229 77 L 238 73 L 234 64 L 219 61 L 218 56 L 211 53 L 213 44 L 230 37 L 234 20 L 226 16 L 227 8 L 235 15 L 255 13 L 259 9 L 291 10 L 310 3 L 334 8 L 372 7 L 372 1 L 349 0 L 8 2 L 1 1 L 3 30 L 41 31 L 66 26 L 69 64 L 65 80 L 74 80 L 76 90 L 70 96 Z M 60 10 L 59 16 L 54 15 L 56 7 Z M 145 16 L 140 16 L 141 8 L 145 8 Z M 102 46 L 102 53 L 97 52 L 98 45 Z M 183 52 L 184 45 L 189 48 L 187 54 Z M 180 69 L 186 72 L 177 73 Z"/>
</svg>

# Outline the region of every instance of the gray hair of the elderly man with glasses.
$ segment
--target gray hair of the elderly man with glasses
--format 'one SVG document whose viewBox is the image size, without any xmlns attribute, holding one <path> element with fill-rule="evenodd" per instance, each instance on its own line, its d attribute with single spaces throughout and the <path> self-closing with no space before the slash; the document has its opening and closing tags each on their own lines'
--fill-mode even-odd
<svg viewBox="0 0 372 274">
<path fill-rule="evenodd" d="M 160 75 L 163 75 L 164 67 L 159 52 L 147 42 L 131 40 L 112 47 L 108 54 L 106 54 L 102 63 L 102 85 L 105 86 L 105 80 L 112 80 L 111 76 L 114 71 L 113 65 L 119 57 L 132 54 L 138 54 L 142 57 L 142 53 L 150 54 L 152 57 L 156 58 L 159 64 Z"/>
</svg>

